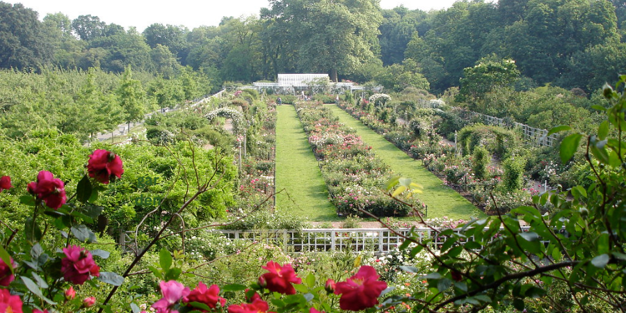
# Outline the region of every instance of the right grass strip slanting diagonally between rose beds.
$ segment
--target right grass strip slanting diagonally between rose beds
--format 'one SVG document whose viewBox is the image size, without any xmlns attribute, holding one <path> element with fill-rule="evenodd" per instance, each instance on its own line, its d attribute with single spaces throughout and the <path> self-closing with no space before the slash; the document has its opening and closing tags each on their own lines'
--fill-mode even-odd
<svg viewBox="0 0 626 313">
<path fill-rule="evenodd" d="M 424 193 L 419 199 L 428 204 L 428 218 L 448 216 L 453 219 L 469 219 L 470 216 L 485 216 L 454 189 L 442 185 L 441 179 L 422 166 L 421 161 L 409 157 L 395 145 L 376 134 L 362 122 L 339 109 L 335 104 L 326 104 L 333 114 L 347 127 L 356 129 L 363 141 L 374 149 L 374 153 L 396 172 L 397 175 L 408 177 L 413 182 L 424 186 Z"/>
</svg>

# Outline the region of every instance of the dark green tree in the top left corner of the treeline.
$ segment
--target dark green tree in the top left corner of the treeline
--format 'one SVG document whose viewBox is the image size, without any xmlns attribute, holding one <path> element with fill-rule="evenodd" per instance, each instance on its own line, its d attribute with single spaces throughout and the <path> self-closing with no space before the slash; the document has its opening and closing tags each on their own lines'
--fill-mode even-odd
<svg viewBox="0 0 626 313">
<path fill-rule="evenodd" d="M 54 55 L 37 13 L 22 4 L 0 2 L 0 67 L 39 68 Z"/>
</svg>

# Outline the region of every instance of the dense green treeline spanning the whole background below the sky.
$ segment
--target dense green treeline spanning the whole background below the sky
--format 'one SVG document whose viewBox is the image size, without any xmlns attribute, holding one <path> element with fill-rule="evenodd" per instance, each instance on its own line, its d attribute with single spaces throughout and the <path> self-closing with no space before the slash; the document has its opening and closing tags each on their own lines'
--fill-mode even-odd
<svg viewBox="0 0 626 313">
<path fill-rule="evenodd" d="M 552 83 L 590 93 L 626 66 L 626 9 L 607 0 L 459 1 L 446 10 L 383 10 L 374 0 L 271 0 L 259 17 L 218 26 L 152 24 L 143 32 L 97 16 L 70 20 L 0 2 L 0 67 L 128 65 L 165 79 L 186 65 L 223 81 L 274 80 L 280 72 L 327 72 L 442 93 L 481 58 L 511 58 L 520 88 Z"/>
</svg>

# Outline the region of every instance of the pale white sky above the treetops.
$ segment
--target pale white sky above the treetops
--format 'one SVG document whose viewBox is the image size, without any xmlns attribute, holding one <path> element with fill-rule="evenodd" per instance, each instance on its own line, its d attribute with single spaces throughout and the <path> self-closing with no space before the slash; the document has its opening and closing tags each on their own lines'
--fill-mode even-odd
<svg viewBox="0 0 626 313">
<path fill-rule="evenodd" d="M 136 26 L 141 33 L 150 24 L 172 24 L 195 27 L 217 26 L 225 16 L 258 15 L 269 6 L 267 0 L 4 0 L 22 3 L 32 8 L 42 19 L 48 13 L 63 13 L 75 19 L 79 15 L 94 15 L 106 24 L 115 23 L 129 29 Z M 410 10 L 439 10 L 448 8 L 455 0 L 380 0 L 380 7 L 395 8 L 401 4 Z"/>
</svg>

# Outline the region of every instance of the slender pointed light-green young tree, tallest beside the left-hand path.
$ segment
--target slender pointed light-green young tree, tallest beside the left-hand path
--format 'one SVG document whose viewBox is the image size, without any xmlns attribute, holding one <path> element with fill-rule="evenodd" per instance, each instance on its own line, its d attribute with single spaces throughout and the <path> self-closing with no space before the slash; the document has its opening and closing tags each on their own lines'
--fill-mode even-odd
<svg viewBox="0 0 626 313">
<path fill-rule="evenodd" d="M 130 123 L 142 120 L 146 111 L 145 92 L 141 86 L 141 81 L 133 79 L 130 66 L 127 66 L 124 74 L 122 74 L 117 95 L 120 107 L 125 113 L 128 130 L 130 131 Z"/>
</svg>

